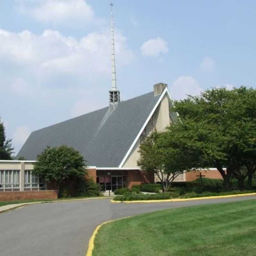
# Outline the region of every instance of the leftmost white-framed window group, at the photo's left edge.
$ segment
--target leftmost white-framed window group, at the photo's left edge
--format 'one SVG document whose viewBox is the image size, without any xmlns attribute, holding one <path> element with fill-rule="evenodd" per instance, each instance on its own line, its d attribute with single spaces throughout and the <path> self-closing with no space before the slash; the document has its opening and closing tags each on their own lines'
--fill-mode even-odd
<svg viewBox="0 0 256 256">
<path fill-rule="evenodd" d="M 0 191 L 13 191 L 20 188 L 20 171 L 0 171 Z"/>
</svg>

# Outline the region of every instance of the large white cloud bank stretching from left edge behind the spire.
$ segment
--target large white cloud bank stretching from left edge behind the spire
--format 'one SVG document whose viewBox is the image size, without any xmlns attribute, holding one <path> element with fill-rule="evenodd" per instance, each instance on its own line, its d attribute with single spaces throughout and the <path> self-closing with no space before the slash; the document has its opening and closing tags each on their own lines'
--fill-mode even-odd
<svg viewBox="0 0 256 256">
<path fill-rule="evenodd" d="M 29 95 L 38 92 L 40 86 L 74 87 L 84 81 L 87 84 L 95 83 L 100 77 L 110 76 L 108 32 L 89 33 L 77 40 L 54 30 L 45 30 L 42 35 L 36 35 L 30 31 L 12 33 L 0 29 L 0 63 L 12 69 L 9 88 L 16 93 Z M 127 38 L 118 30 L 115 39 L 116 62 L 121 67 L 130 63 L 135 56 L 127 46 Z M 4 76 L 6 78 L 8 74 Z"/>
</svg>

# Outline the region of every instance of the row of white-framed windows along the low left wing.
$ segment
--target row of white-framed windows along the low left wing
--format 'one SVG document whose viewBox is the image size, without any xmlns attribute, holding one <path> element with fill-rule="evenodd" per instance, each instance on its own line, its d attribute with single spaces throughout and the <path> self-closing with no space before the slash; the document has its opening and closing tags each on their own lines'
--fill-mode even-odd
<svg viewBox="0 0 256 256">
<path fill-rule="evenodd" d="M 43 189 L 44 180 L 36 177 L 32 171 L 25 171 L 24 174 L 25 190 L 34 190 L 33 188 Z M 20 171 L 1 170 L 0 171 L 0 191 L 20 190 Z"/>
</svg>

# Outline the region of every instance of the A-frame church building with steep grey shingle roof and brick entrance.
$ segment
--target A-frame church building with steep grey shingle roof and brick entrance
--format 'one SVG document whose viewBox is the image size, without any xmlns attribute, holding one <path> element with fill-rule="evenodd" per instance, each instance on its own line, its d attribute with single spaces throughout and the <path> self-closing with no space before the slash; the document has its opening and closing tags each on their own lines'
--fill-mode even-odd
<svg viewBox="0 0 256 256">
<path fill-rule="evenodd" d="M 138 149 L 150 132 L 163 131 L 174 121 L 167 84 L 155 84 L 153 92 L 125 101 L 113 85 L 108 107 L 32 132 L 17 158 L 36 160 L 47 146 L 67 145 L 84 156 L 89 175 L 103 190 L 154 182 L 154 174 L 137 165 Z"/>
</svg>

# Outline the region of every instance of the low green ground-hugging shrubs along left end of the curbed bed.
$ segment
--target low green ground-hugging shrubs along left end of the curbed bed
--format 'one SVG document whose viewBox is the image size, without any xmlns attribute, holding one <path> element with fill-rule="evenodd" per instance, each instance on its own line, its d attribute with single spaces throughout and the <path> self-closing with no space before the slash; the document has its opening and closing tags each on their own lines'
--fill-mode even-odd
<svg viewBox="0 0 256 256">
<path fill-rule="evenodd" d="M 164 200 L 171 199 L 172 196 L 170 193 L 161 193 L 161 194 L 136 194 L 128 193 L 124 196 L 115 196 L 115 201 L 138 201 L 138 200 Z"/>
</svg>

